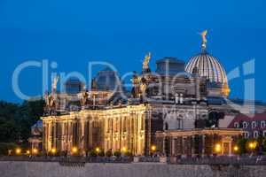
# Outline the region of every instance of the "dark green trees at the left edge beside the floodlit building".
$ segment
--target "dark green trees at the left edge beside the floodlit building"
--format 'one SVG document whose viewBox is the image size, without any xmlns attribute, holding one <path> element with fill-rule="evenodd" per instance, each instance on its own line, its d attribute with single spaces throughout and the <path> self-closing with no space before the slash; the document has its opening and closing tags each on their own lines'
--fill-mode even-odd
<svg viewBox="0 0 266 177">
<path fill-rule="evenodd" d="M 30 127 L 43 115 L 43 105 L 42 99 L 22 104 L 0 101 L 0 142 L 27 146 Z"/>
</svg>

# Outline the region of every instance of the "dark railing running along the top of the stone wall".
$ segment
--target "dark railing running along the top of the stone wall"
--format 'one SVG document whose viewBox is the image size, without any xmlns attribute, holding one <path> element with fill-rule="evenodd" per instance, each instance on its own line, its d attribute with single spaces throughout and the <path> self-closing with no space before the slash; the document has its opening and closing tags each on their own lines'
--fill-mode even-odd
<svg viewBox="0 0 266 177">
<path fill-rule="evenodd" d="M 137 162 L 161 162 L 160 157 L 137 157 Z M 131 163 L 132 157 L 0 157 L 0 161 L 59 162 L 61 165 L 84 165 L 85 163 Z M 167 158 L 168 164 L 176 165 L 266 165 L 266 156 L 258 157 L 204 157 Z"/>
</svg>

